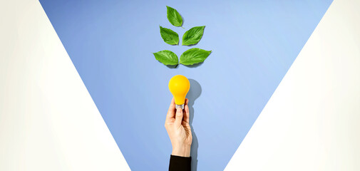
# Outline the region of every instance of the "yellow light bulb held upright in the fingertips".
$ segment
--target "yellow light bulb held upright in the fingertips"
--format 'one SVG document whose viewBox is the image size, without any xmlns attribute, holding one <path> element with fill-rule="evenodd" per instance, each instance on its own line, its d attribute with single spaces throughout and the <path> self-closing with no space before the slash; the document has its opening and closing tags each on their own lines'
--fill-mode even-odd
<svg viewBox="0 0 360 171">
<path fill-rule="evenodd" d="M 185 76 L 176 75 L 169 81 L 169 90 L 174 95 L 176 108 L 184 109 L 185 96 L 190 89 L 190 82 Z"/>
</svg>

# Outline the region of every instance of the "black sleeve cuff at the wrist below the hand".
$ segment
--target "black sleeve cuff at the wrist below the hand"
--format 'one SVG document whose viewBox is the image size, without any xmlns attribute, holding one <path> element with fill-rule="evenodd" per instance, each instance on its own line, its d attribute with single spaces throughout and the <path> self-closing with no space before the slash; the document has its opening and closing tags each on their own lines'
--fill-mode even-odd
<svg viewBox="0 0 360 171">
<path fill-rule="evenodd" d="M 191 171 L 191 157 L 170 155 L 169 171 Z"/>
</svg>

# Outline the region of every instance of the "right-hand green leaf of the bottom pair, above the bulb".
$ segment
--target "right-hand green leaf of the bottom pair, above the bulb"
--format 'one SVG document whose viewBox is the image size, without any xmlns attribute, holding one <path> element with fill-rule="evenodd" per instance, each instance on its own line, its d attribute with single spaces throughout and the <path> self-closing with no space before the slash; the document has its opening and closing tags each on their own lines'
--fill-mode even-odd
<svg viewBox="0 0 360 171">
<path fill-rule="evenodd" d="M 200 63 L 205 61 L 207 56 L 209 56 L 211 51 L 205 51 L 201 48 L 190 48 L 189 50 L 182 53 L 180 56 L 180 63 L 189 66 L 195 63 Z"/>
</svg>

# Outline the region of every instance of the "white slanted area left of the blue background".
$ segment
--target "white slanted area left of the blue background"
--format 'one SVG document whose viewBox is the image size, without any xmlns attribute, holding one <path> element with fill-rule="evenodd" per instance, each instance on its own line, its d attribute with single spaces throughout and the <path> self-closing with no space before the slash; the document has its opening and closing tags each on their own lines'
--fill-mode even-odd
<svg viewBox="0 0 360 171">
<path fill-rule="evenodd" d="M 130 170 L 41 4 L 0 21 L 0 170 Z"/>
</svg>

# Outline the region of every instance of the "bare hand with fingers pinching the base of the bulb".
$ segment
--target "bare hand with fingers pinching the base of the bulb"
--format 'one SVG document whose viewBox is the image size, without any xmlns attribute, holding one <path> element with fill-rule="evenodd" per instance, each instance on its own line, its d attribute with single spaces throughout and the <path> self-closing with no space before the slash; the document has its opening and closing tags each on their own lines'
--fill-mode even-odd
<svg viewBox="0 0 360 171">
<path fill-rule="evenodd" d="M 188 99 L 185 99 L 185 108 L 182 111 L 181 108 L 175 109 L 174 98 L 171 100 L 171 104 L 166 115 L 165 128 L 168 131 L 168 135 L 173 145 L 173 152 L 171 155 L 178 155 L 182 157 L 190 157 L 190 147 L 192 142 L 191 128 L 189 124 L 189 107 L 187 103 Z"/>
</svg>

